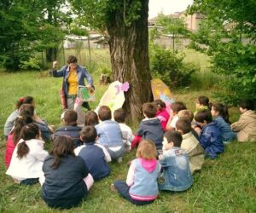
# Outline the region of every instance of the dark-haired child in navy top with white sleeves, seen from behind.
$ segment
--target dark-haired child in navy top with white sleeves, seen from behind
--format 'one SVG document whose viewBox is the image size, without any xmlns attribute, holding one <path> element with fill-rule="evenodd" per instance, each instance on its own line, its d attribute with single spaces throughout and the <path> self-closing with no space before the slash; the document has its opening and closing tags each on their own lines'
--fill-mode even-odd
<svg viewBox="0 0 256 213">
<path fill-rule="evenodd" d="M 84 126 L 80 132 L 84 145 L 77 147 L 74 153 L 84 159 L 91 176 L 95 181 L 110 174 L 108 162 L 110 155 L 105 147 L 96 143 L 96 129 L 94 126 Z"/>
</svg>

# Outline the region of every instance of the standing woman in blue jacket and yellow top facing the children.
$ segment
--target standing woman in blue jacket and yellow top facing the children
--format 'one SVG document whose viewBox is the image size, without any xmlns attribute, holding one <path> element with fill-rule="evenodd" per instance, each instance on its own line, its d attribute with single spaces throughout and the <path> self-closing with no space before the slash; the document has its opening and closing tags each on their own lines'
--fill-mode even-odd
<svg viewBox="0 0 256 213">
<path fill-rule="evenodd" d="M 67 66 L 63 66 L 60 71 L 56 70 L 58 62 L 53 62 L 52 75 L 55 78 L 63 77 L 62 95 L 64 95 L 63 98 L 65 100 L 61 101 L 63 109 L 73 109 L 79 86 L 85 86 L 84 78 L 86 78 L 89 83 L 88 89 L 94 89 L 93 79 L 89 72 L 87 72 L 85 67 L 79 66 L 77 62 L 78 59 L 76 56 L 69 55 L 67 58 Z M 83 106 L 90 110 L 88 102 L 84 102 Z"/>
</svg>

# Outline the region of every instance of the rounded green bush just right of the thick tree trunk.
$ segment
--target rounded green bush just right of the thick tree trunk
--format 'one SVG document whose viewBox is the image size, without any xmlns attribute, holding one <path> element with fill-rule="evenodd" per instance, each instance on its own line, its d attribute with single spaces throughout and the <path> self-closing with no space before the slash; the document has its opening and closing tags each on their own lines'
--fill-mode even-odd
<svg viewBox="0 0 256 213">
<path fill-rule="evenodd" d="M 172 88 L 189 85 L 191 75 L 199 70 L 195 64 L 183 62 L 184 55 L 178 55 L 176 50 L 156 44 L 150 45 L 149 57 L 152 77 L 160 78 Z"/>
</svg>

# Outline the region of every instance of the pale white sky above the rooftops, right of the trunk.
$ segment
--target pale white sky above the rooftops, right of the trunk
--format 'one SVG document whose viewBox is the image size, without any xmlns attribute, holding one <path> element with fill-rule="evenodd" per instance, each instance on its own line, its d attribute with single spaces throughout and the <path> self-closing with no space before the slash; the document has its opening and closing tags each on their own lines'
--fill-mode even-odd
<svg viewBox="0 0 256 213">
<path fill-rule="evenodd" d="M 149 0 L 148 18 L 154 18 L 160 12 L 163 14 L 173 14 L 187 9 L 193 0 Z"/>
</svg>

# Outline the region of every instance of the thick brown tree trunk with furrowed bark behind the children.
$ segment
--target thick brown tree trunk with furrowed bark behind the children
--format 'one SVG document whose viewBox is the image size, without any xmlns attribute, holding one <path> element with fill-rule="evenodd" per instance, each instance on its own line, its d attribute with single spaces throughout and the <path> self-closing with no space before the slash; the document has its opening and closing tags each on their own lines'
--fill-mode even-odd
<svg viewBox="0 0 256 213">
<path fill-rule="evenodd" d="M 127 2 L 131 3 L 132 0 Z M 125 7 L 129 7 L 129 3 Z M 141 0 L 141 3 L 141 16 L 130 26 L 125 25 L 125 7 L 110 14 L 107 25 L 113 78 L 121 83 L 130 83 L 124 104 L 128 122 L 138 122 L 143 118 L 143 103 L 152 99 L 148 59 L 148 0 Z"/>
</svg>

